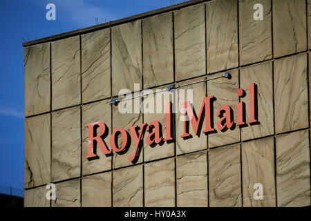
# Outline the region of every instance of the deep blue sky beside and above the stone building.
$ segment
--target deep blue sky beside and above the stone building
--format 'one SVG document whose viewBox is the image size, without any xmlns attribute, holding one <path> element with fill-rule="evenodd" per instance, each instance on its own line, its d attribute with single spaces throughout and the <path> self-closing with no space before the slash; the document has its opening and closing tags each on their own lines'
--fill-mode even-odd
<svg viewBox="0 0 311 221">
<path fill-rule="evenodd" d="M 23 189 L 26 41 L 122 19 L 183 0 L 4 0 L 0 7 L 0 185 Z M 46 5 L 56 21 L 46 20 Z"/>
</svg>

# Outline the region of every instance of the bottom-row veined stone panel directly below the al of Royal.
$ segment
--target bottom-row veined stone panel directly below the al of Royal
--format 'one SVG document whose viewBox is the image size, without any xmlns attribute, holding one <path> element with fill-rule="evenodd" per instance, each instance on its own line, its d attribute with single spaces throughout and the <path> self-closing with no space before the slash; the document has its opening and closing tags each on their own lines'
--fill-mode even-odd
<svg viewBox="0 0 311 221">
<path fill-rule="evenodd" d="M 175 206 L 174 158 L 144 164 L 144 206 Z"/>
</svg>

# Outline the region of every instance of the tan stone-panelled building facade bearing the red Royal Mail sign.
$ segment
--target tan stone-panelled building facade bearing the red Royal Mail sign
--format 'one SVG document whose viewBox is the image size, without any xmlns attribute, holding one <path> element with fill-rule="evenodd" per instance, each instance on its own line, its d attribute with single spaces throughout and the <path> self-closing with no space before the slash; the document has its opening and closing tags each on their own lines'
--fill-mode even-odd
<svg viewBox="0 0 311 221">
<path fill-rule="evenodd" d="M 25 206 L 309 206 L 310 12 L 188 1 L 23 44 Z M 141 111 L 168 86 L 191 120 Z"/>
</svg>

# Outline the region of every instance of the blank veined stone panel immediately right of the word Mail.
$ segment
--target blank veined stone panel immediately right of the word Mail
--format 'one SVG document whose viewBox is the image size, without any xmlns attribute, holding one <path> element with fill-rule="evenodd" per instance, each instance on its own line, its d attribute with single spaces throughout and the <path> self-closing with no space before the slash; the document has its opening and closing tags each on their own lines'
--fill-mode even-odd
<svg viewBox="0 0 311 221">
<path fill-rule="evenodd" d="M 274 61 L 276 133 L 308 127 L 307 77 L 306 54 Z"/>
</svg>

